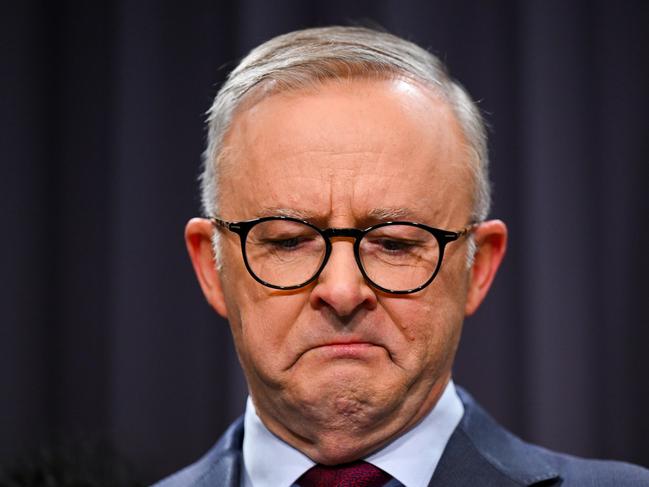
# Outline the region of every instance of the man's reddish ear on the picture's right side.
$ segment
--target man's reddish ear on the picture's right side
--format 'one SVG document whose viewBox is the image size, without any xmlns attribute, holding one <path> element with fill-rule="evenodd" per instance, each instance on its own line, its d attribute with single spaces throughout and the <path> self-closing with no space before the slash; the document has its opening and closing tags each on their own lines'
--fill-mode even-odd
<svg viewBox="0 0 649 487">
<path fill-rule="evenodd" d="M 507 227 L 500 220 L 481 223 L 473 232 L 477 246 L 464 313 L 475 313 L 484 300 L 507 248 Z"/>
</svg>

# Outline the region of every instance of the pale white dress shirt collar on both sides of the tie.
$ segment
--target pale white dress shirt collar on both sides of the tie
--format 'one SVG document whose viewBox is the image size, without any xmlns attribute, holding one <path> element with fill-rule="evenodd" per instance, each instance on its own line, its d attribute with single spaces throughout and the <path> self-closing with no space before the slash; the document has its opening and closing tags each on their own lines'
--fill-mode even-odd
<svg viewBox="0 0 649 487">
<path fill-rule="evenodd" d="M 450 381 L 433 410 L 419 424 L 364 460 L 405 487 L 426 487 L 463 414 L 464 406 Z M 241 487 L 291 487 L 314 465 L 313 460 L 264 426 L 248 397 Z"/>
</svg>

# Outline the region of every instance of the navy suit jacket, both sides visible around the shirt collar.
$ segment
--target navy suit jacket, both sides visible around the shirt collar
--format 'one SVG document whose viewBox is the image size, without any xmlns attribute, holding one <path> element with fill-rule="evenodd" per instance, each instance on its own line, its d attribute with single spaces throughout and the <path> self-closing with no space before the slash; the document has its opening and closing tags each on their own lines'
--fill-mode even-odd
<svg viewBox="0 0 649 487">
<path fill-rule="evenodd" d="M 649 486 L 649 470 L 586 460 L 525 443 L 491 418 L 461 388 L 464 416 L 446 445 L 429 487 Z M 243 418 L 195 464 L 155 487 L 239 487 Z"/>
</svg>

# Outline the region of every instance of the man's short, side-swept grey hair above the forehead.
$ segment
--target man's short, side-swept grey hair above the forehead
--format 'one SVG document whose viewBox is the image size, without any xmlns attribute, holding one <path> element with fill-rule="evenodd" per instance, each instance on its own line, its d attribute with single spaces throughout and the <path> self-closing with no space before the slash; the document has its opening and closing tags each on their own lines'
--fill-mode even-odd
<svg viewBox="0 0 649 487">
<path fill-rule="evenodd" d="M 423 83 L 450 105 L 464 132 L 473 175 L 471 217 L 484 220 L 491 206 L 491 186 L 487 135 L 480 110 L 437 57 L 412 42 L 363 27 L 305 29 L 275 37 L 253 49 L 230 73 L 208 112 L 207 148 L 200 177 L 204 214 L 217 214 L 224 139 L 244 101 L 330 79 L 392 77 Z"/>
</svg>

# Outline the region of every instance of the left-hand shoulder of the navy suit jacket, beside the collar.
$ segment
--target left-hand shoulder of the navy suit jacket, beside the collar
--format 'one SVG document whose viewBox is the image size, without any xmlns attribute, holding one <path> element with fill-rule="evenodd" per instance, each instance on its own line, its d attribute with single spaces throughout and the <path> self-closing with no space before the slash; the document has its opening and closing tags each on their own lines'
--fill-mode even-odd
<svg viewBox="0 0 649 487">
<path fill-rule="evenodd" d="M 201 459 L 153 487 L 238 487 L 242 444 L 243 417 L 240 417 Z"/>
</svg>

